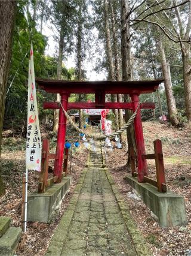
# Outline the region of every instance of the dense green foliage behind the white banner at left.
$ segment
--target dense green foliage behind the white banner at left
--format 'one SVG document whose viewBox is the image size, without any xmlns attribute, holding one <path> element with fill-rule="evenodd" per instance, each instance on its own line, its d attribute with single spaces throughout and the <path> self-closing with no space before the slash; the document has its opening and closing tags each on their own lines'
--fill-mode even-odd
<svg viewBox="0 0 191 256">
<path fill-rule="evenodd" d="M 44 78 L 57 77 L 57 58 L 45 56 L 47 38 L 38 32 L 32 20 L 29 10 L 26 8 L 27 1 L 18 1 L 16 26 L 13 38 L 13 53 L 11 57 L 10 74 L 8 77 L 7 97 L 5 103 L 5 122 L 8 128 L 13 119 L 13 127 L 19 128 L 27 115 L 27 79 L 29 65 L 29 50 L 31 39 L 33 41 L 35 76 Z M 32 2 L 33 4 L 33 2 Z M 27 9 L 27 12 L 26 12 Z M 66 80 L 73 79 L 75 69 L 62 68 L 62 77 Z M 36 91 L 39 106 L 39 118 L 45 115 L 52 116 L 51 110 L 44 110 L 44 101 L 53 101 L 55 95 L 47 94 L 44 91 Z"/>
</svg>

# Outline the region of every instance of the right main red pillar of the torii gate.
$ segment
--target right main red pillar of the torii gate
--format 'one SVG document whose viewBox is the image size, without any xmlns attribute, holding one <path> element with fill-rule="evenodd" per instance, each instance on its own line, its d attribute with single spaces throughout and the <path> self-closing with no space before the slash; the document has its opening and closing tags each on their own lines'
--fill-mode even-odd
<svg viewBox="0 0 191 256">
<path fill-rule="evenodd" d="M 138 107 L 138 93 L 134 92 L 130 95 L 132 104 L 133 104 L 133 112 Z M 138 182 L 143 182 L 144 176 L 147 176 L 147 161 L 142 158 L 142 155 L 145 155 L 145 147 L 144 147 L 144 135 L 143 135 L 143 127 L 141 122 L 141 110 L 138 107 L 137 115 L 134 119 L 134 128 L 135 128 L 135 138 L 137 144 L 137 161 L 138 161 Z"/>
</svg>

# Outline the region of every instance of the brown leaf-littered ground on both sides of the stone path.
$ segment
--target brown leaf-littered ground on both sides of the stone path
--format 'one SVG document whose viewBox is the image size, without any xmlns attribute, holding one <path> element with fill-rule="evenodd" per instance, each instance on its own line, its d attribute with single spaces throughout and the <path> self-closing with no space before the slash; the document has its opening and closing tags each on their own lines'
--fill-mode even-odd
<svg viewBox="0 0 191 256">
<path fill-rule="evenodd" d="M 152 248 L 154 255 L 185 255 L 191 252 L 191 135 L 189 127 L 174 128 L 168 124 L 156 122 L 143 122 L 146 153 L 153 153 L 153 140 L 162 140 L 165 157 L 165 174 L 168 189 L 183 195 L 186 204 L 188 224 L 184 227 L 161 228 L 150 210 L 141 200 L 130 198 L 135 191 L 124 179 L 128 171 L 127 149 L 115 149 L 107 152 L 107 167 L 111 171 L 116 184 L 124 195 L 130 208 L 132 218 L 138 228 L 143 232 L 147 243 Z M 69 130 L 69 129 L 68 129 Z M 42 127 L 42 138 L 50 139 L 52 152 L 55 150 L 56 137 L 46 127 Z M 67 138 L 73 136 L 73 131 L 67 132 Z M 124 134 L 125 135 L 125 134 Z M 125 144 L 125 143 L 124 143 Z M 22 177 L 25 173 L 25 139 L 20 135 L 4 132 L 3 146 L 1 153 L 1 170 L 5 180 L 6 194 L 0 199 L 1 216 L 11 216 L 12 224 L 21 227 L 21 188 Z M 27 223 L 27 234 L 23 234 L 17 255 L 44 255 L 47 250 L 51 236 L 60 221 L 61 216 L 67 208 L 73 190 L 78 182 L 82 169 L 87 162 L 87 150 L 81 147 L 73 153 L 72 179 L 73 183 L 70 192 L 61 204 L 58 218 L 53 224 L 39 222 Z M 53 168 L 53 161 L 50 161 L 50 171 Z M 68 167 L 68 171 L 70 165 Z M 156 179 L 155 162 L 149 160 L 149 177 Z M 49 173 L 52 176 L 52 173 Z M 29 171 L 29 192 L 38 188 L 38 173 Z"/>
</svg>

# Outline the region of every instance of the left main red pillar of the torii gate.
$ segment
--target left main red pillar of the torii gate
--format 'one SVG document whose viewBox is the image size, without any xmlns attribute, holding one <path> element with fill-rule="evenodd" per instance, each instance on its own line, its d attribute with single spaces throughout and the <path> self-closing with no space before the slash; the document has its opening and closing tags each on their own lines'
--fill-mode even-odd
<svg viewBox="0 0 191 256">
<path fill-rule="evenodd" d="M 69 94 L 60 94 L 61 101 L 64 110 L 67 111 L 67 101 Z M 54 162 L 54 176 L 57 176 L 57 183 L 61 182 L 62 168 L 63 168 L 63 153 L 66 136 L 66 116 L 60 106 L 59 121 L 58 121 L 58 133 L 57 133 L 57 147 L 56 147 L 56 159 Z"/>
</svg>

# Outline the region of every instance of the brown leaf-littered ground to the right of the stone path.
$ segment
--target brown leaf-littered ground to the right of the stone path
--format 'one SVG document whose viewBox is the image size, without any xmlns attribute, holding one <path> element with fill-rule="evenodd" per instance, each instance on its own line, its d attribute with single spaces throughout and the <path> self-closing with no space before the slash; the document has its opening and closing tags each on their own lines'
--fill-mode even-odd
<svg viewBox="0 0 191 256">
<path fill-rule="evenodd" d="M 153 140 L 160 138 L 164 153 L 167 189 L 183 195 L 188 223 L 186 226 L 161 228 L 134 189 L 125 181 L 127 150 L 108 152 L 107 167 L 129 206 L 131 216 L 152 248 L 154 255 L 190 255 L 191 253 L 191 133 L 189 127 L 143 122 L 146 153 L 153 153 Z M 148 161 L 149 177 L 156 180 L 155 160 Z M 135 197 L 134 197 L 135 194 Z M 133 198 L 132 199 L 132 195 Z"/>
</svg>

